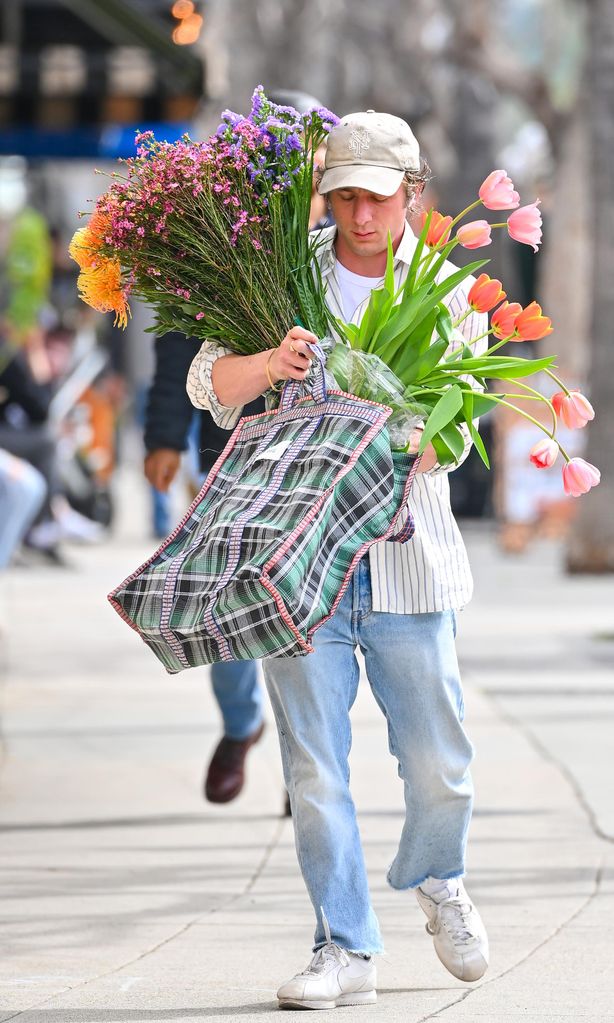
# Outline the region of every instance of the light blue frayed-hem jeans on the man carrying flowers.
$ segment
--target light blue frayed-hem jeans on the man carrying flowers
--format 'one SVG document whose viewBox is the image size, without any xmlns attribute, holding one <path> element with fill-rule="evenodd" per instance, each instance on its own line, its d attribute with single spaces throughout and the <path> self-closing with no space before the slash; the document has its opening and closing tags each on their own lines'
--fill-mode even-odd
<svg viewBox="0 0 614 1023">
<path fill-rule="evenodd" d="M 364 656 L 404 783 L 405 821 L 388 874 L 393 888 L 465 873 L 473 747 L 463 729 L 453 611 L 393 615 L 371 610 L 368 560 L 356 568 L 315 653 L 268 658 L 264 675 L 277 723 L 297 853 L 315 909 L 315 947 L 383 951 L 356 811 L 349 790 L 350 708 Z"/>
</svg>

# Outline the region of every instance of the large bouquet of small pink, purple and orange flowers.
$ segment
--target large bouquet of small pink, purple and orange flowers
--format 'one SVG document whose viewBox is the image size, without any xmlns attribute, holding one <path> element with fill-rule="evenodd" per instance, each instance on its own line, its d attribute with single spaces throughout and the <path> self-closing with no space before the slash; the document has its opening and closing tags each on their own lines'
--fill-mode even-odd
<svg viewBox="0 0 614 1023">
<path fill-rule="evenodd" d="M 313 160 L 337 123 L 269 102 L 261 86 L 248 117 L 226 110 L 205 142 L 136 136 L 70 247 L 83 300 L 126 326 L 131 295 L 157 332 L 220 341 L 237 354 L 271 347 L 299 320 L 328 330 L 309 236 Z"/>
</svg>

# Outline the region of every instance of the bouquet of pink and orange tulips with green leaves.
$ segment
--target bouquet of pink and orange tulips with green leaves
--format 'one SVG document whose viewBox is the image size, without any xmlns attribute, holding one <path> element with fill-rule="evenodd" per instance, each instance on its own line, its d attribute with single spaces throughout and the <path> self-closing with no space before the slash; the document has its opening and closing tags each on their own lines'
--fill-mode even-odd
<svg viewBox="0 0 614 1023">
<path fill-rule="evenodd" d="M 443 304 L 470 274 L 488 262 L 478 260 L 444 280 L 440 271 L 456 246 L 480 249 L 490 244 L 491 231 L 505 227 L 516 241 L 532 246 L 541 240 L 539 201 L 520 207 L 519 194 L 506 171 L 496 170 L 482 183 L 478 198 L 457 217 L 444 217 L 435 210 L 423 215 L 422 232 L 405 282 L 395 290 L 393 252 L 389 244 L 388 265 L 382 287 L 374 291 L 359 326 L 337 322 L 339 333 L 349 344 L 333 349 L 327 366 L 340 386 L 351 385 L 359 397 L 392 405 L 397 415 L 414 414 L 425 428 L 420 450 L 432 443 L 441 464 L 457 460 L 465 448 L 459 427 L 465 425 L 483 461 L 488 457 L 475 419 L 495 405 L 513 409 L 544 433 L 544 439 L 529 453 L 537 469 L 552 466 L 563 456 L 565 492 L 574 497 L 586 493 L 600 482 L 600 473 L 583 458 L 571 458 L 557 438 L 557 427 L 579 428 L 594 418 L 593 407 L 579 391 L 569 391 L 553 371 L 554 357 L 526 359 L 499 352 L 508 342 L 538 341 L 552 332 L 550 317 L 537 302 L 525 309 L 508 302 L 499 280 L 480 273 L 469 291 L 469 310 L 455 321 Z M 513 210 L 500 223 L 474 220 L 457 224 L 476 207 Z M 455 230 L 454 230 L 455 229 Z M 489 328 L 472 344 L 492 335 L 494 344 L 476 354 L 457 328 L 472 311 L 491 313 Z M 374 363 L 374 359 L 376 360 Z M 378 369 L 381 360 L 385 366 Z M 391 399 L 390 374 L 396 377 L 396 394 Z M 534 373 L 545 373 L 561 390 L 547 398 L 526 383 Z M 488 392 L 487 382 L 506 382 L 505 392 Z M 508 386 L 510 390 L 508 390 Z M 543 426 L 517 401 L 536 401 L 546 407 L 549 426 Z M 394 418 L 394 415 L 393 415 Z"/>
</svg>

